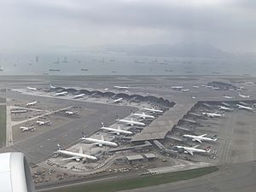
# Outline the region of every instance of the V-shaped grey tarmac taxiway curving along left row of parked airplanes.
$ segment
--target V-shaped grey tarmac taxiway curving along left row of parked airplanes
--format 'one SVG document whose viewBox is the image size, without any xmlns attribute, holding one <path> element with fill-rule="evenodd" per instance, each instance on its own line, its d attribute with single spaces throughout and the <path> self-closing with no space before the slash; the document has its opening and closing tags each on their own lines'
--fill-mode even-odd
<svg viewBox="0 0 256 192">
<path fill-rule="evenodd" d="M 98 126 L 103 121 L 106 125 L 113 123 L 116 119 L 116 114 L 119 114 L 121 118 L 128 116 L 131 113 L 131 107 L 113 106 L 91 102 L 76 102 L 68 101 L 64 99 L 56 99 L 42 96 L 26 96 L 21 94 L 15 94 L 11 97 L 20 99 L 35 99 L 38 101 L 50 102 L 50 103 L 62 103 L 64 106 L 80 106 L 82 108 L 94 109 L 95 113 L 90 113 L 84 118 L 76 119 L 69 122 L 66 125 L 61 125 L 53 130 L 43 132 L 35 137 L 28 137 L 26 140 L 20 143 L 15 143 L 13 148 L 26 154 L 29 162 L 39 162 L 49 154 L 52 154 L 56 150 L 56 143 L 60 143 L 63 147 L 78 141 L 82 137 L 82 131 L 86 134 L 90 134 L 98 130 Z"/>
</svg>

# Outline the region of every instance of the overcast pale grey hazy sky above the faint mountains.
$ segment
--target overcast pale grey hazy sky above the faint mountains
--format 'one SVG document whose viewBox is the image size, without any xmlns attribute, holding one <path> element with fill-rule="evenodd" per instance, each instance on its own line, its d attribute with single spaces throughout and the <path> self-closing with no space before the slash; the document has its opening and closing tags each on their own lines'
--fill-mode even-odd
<svg viewBox="0 0 256 192">
<path fill-rule="evenodd" d="M 255 0 L 0 0 L 0 52 L 207 42 L 256 52 Z"/>
</svg>

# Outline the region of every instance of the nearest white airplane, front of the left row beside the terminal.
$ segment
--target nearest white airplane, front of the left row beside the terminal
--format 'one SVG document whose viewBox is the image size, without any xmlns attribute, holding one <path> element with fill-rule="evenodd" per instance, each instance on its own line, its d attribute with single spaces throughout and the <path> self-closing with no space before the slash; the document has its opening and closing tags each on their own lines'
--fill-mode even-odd
<svg viewBox="0 0 256 192">
<path fill-rule="evenodd" d="M 60 144 L 57 144 L 57 146 L 58 146 L 58 150 L 56 151 L 56 153 L 66 154 L 68 156 L 72 156 L 72 157 L 69 157 L 69 158 L 63 159 L 63 160 L 76 160 L 76 161 L 80 161 L 80 160 L 83 160 L 83 161 L 85 161 L 85 160 L 97 160 L 97 158 L 95 156 L 93 156 L 93 155 L 84 154 L 82 147 L 79 148 L 79 153 L 76 153 L 76 152 L 71 152 L 71 151 L 63 150 L 61 148 Z"/>
</svg>

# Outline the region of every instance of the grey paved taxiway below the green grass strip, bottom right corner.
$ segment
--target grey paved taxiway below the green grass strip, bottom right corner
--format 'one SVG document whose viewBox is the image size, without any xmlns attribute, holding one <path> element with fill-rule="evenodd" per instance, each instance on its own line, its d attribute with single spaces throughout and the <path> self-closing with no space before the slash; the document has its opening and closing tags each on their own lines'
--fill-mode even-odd
<svg viewBox="0 0 256 192">
<path fill-rule="evenodd" d="M 255 192 L 256 161 L 223 166 L 204 177 L 122 192 Z"/>
</svg>

